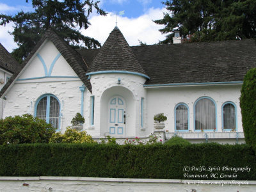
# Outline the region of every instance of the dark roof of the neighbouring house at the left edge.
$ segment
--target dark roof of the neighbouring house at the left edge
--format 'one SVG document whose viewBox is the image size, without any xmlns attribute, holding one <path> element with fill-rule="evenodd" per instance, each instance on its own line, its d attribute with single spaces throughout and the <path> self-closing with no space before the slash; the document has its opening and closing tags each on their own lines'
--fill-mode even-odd
<svg viewBox="0 0 256 192">
<path fill-rule="evenodd" d="M 10 73 L 20 70 L 20 63 L 0 44 L 0 67 Z"/>
</svg>

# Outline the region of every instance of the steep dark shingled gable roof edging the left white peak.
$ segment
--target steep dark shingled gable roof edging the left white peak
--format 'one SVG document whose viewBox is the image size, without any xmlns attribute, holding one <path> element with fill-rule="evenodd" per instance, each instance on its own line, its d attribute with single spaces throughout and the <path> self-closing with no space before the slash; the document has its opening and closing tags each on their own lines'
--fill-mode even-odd
<svg viewBox="0 0 256 192">
<path fill-rule="evenodd" d="M 58 36 L 52 29 L 48 29 L 45 35 L 38 42 L 38 44 L 36 44 L 33 50 L 29 53 L 28 57 L 22 62 L 20 70 L 15 72 L 13 76 L 10 78 L 10 80 L 4 85 L 4 87 L 0 92 L 0 97 L 3 95 L 4 92 L 6 92 L 6 90 L 13 83 L 16 77 L 19 76 L 22 68 L 26 66 L 28 61 L 32 58 L 32 56 L 36 53 L 39 47 L 47 39 L 52 41 L 52 43 L 56 46 L 58 51 L 60 51 L 63 58 L 65 58 L 67 63 L 70 65 L 70 67 L 74 70 L 74 72 L 76 72 L 77 76 L 84 83 L 86 88 L 88 88 L 88 90 L 92 92 L 92 85 L 90 83 L 90 80 L 88 79 L 88 77 L 85 76 L 87 67 L 85 65 L 85 62 L 81 54 L 79 54 L 77 51 L 72 49 L 72 47 L 70 47 L 70 45 L 68 45 L 63 39 L 61 39 L 60 36 Z"/>
</svg>

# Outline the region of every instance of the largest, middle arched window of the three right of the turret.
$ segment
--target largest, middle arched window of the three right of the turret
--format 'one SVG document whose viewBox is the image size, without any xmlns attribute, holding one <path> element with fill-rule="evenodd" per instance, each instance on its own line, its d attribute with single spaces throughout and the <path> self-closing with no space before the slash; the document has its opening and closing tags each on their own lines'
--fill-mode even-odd
<svg viewBox="0 0 256 192">
<path fill-rule="evenodd" d="M 214 100 L 209 97 L 195 102 L 195 130 L 216 130 L 216 107 Z"/>
</svg>

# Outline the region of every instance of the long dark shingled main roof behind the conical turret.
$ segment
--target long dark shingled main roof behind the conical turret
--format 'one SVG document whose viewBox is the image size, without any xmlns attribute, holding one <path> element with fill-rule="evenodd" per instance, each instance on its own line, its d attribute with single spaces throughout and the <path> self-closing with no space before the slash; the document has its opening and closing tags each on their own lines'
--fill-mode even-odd
<svg viewBox="0 0 256 192">
<path fill-rule="evenodd" d="M 253 39 L 189 44 L 132 46 L 136 58 L 150 77 L 145 84 L 212 83 L 243 81 L 256 67 Z M 99 49 L 79 51 L 84 58 Z M 90 55 L 90 57 L 88 57 Z"/>
</svg>

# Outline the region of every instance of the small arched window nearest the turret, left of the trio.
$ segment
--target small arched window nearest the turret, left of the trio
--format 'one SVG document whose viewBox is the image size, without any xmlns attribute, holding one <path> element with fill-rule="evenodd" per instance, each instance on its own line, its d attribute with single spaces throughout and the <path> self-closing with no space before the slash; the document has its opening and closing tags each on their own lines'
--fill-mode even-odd
<svg viewBox="0 0 256 192">
<path fill-rule="evenodd" d="M 189 110 L 186 104 L 177 104 L 175 107 L 175 131 L 189 130 Z"/>
</svg>

